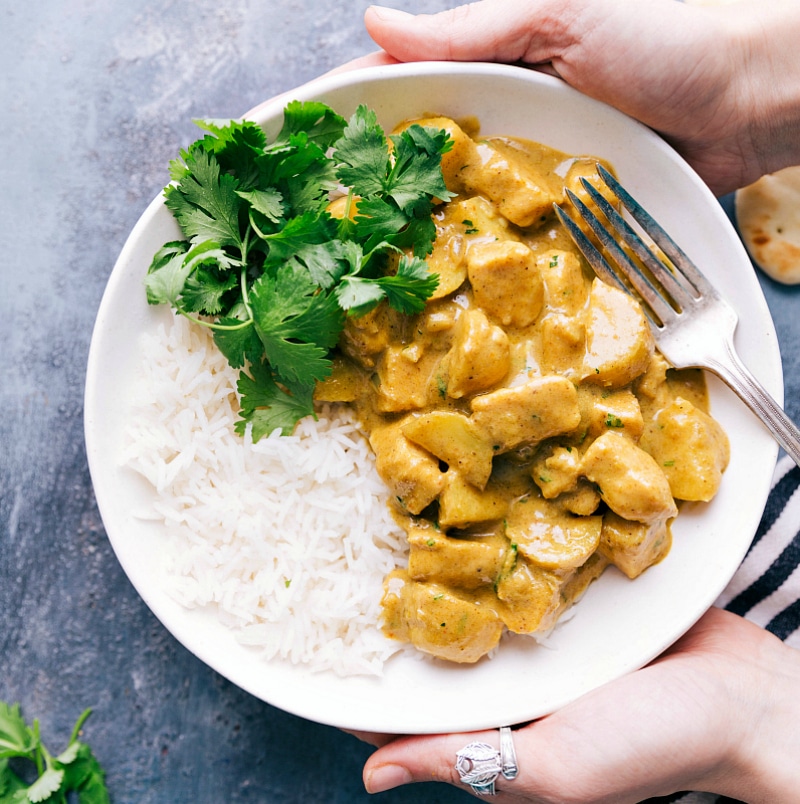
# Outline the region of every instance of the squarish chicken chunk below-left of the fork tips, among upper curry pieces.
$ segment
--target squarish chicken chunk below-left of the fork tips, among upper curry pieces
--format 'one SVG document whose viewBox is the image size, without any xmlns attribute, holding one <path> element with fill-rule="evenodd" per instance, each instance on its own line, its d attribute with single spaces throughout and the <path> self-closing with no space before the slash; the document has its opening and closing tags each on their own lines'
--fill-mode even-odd
<svg viewBox="0 0 800 804">
<path fill-rule="evenodd" d="M 475 302 L 503 326 L 527 327 L 539 315 L 544 286 L 534 253 L 524 243 L 484 243 L 467 254 Z"/>
</svg>

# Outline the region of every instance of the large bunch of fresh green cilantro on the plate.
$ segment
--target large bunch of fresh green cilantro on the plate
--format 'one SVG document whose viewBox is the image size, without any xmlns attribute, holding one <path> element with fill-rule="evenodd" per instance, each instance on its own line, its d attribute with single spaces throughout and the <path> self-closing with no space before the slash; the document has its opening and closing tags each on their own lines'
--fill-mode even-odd
<svg viewBox="0 0 800 804">
<path fill-rule="evenodd" d="M 387 137 L 370 109 L 348 121 L 317 102 L 289 103 L 272 141 L 250 121 L 198 125 L 164 190 L 185 239 L 154 255 L 147 299 L 211 328 L 239 370 L 239 433 L 288 434 L 313 415 L 348 315 L 383 301 L 414 314 L 436 289 L 425 257 L 452 140 L 419 125 Z"/>
</svg>

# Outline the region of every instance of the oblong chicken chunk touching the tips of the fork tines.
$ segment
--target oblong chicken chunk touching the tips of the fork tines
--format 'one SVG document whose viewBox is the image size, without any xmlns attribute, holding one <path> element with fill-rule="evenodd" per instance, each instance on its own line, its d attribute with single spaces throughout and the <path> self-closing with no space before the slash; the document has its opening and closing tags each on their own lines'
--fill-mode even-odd
<svg viewBox="0 0 800 804">
<path fill-rule="evenodd" d="M 527 170 L 511 149 L 489 142 L 475 146 L 474 159 L 461 173 L 464 186 L 491 199 L 517 226 L 532 226 L 549 215 L 557 197 L 542 177 Z"/>
</svg>

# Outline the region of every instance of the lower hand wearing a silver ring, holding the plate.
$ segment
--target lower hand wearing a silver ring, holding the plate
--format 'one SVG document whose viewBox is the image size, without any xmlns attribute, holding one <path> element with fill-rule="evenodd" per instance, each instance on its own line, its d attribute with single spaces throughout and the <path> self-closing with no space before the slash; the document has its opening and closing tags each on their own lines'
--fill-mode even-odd
<svg viewBox="0 0 800 804">
<path fill-rule="evenodd" d="M 514 732 L 519 775 L 498 804 L 626 804 L 679 790 L 797 801 L 800 652 L 711 609 L 642 670 Z M 359 735 L 362 738 L 365 735 Z M 497 732 L 402 737 L 367 761 L 377 793 L 409 782 L 459 785 L 456 752 Z M 466 789 L 466 788 L 464 788 Z"/>
</svg>

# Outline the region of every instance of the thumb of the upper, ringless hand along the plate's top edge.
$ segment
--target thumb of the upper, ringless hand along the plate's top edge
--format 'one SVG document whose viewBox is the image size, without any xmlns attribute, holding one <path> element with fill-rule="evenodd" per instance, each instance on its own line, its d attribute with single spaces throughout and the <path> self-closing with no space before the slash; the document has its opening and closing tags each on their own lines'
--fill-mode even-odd
<svg viewBox="0 0 800 804">
<path fill-rule="evenodd" d="M 371 6 L 370 36 L 400 61 L 550 61 L 591 30 L 599 9 L 586 0 L 480 0 L 439 14 Z"/>
</svg>

